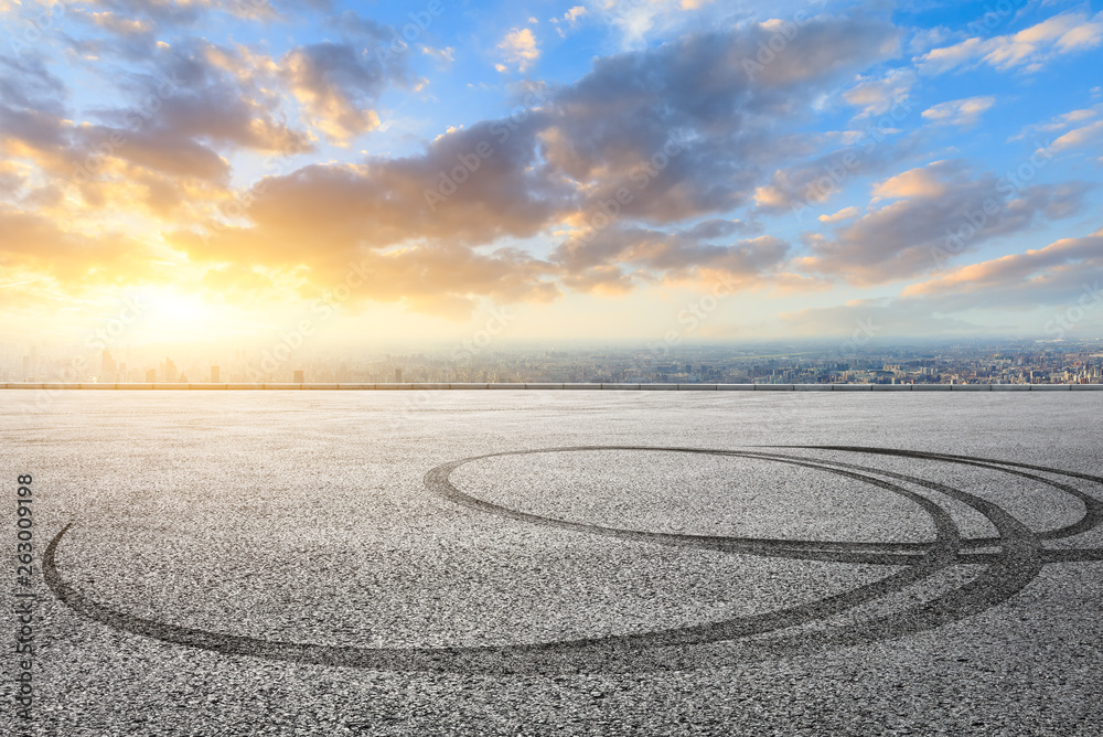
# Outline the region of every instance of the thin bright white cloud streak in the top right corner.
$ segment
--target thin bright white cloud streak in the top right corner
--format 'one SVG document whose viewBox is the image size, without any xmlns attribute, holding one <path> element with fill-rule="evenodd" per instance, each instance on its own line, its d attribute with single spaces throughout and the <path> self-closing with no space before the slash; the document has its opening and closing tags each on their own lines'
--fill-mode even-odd
<svg viewBox="0 0 1103 737">
<path fill-rule="evenodd" d="M 915 63 L 922 72 L 931 74 L 974 64 L 987 64 L 1000 71 L 1037 72 L 1052 58 L 1094 49 L 1101 43 L 1103 12 L 1095 15 L 1065 12 L 1018 33 L 992 39 L 971 38 L 952 46 L 933 49 Z"/>
</svg>

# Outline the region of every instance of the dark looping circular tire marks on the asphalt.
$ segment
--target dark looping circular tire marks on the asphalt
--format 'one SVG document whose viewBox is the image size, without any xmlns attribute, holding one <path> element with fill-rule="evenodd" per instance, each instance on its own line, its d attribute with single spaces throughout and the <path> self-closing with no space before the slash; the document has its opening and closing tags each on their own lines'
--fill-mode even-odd
<svg viewBox="0 0 1103 737">
<path fill-rule="evenodd" d="M 1053 487 L 1083 502 L 1085 512 L 1081 520 L 1061 530 L 1034 533 L 990 501 L 946 484 L 836 460 L 768 452 L 765 449 L 710 450 L 647 446 L 576 446 L 488 453 L 452 461 L 431 469 L 425 476 L 426 488 L 429 491 L 469 509 L 527 524 L 615 537 L 634 544 L 688 546 L 743 555 L 899 567 L 885 578 L 845 592 L 762 615 L 649 632 L 535 644 L 453 648 L 331 647 L 233 635 L 136 617 L 96 602 L 62 579 L 57 570 L 56 552 L 72 523 L 51 541 L 43 556 L 43 573 L 53 594 L 74 611 L 118 631 L 163 642 L 211 650 L 223 654 L 248 655 L 297 663 L 370 670 L 492 674 L 564 671 L 615 672 L 727 665 L 745 660 L 813 653 L 825 649 L 897 639 L 966 619 L 1006 601 L 1022 590 L 1047 563 L 1103 558 L 1103 551 L 1096 548 L 1047 551 L 1041 547 L 1041 540 L 1068 537 L 1096 526 L 1103 520 L 1103 503 L 1067 483 L 1031 474 L 1020 469 L 1103 484 L 1103 479 L 1099 477 L 992 459 L 882 448 L 842 446 L 791 446 L 789 448 L 899 456 L 986 468 L 1026 477 Z M 512 510 L 467 494 L 452 485 L 449 480 L 457 468 L 481 459 L 595 450 L 685 452 L 751 458 L 822 470 L 908 499 L 930 516 L 935 527 L 936 537 L 932 543 L 840 543 L 682 535 L 623 530 Z M 971 506 L 992 523 L 997 531 L 997 536 L 963 540 L 950 514 L 935 501 L 897 482 L 909 483 L 930 493 L 953 499 Z M 985 552 L 987 548 L 996 546 L 999 548 L 998 552 Z M 833 626 L 827 630 L 786 631 L 876 601 L 890 594 L 904 590 L 941 570 L 965 563 L 984 564 L 985 568 L 967 584 L 904 611 Z M 720 647 L 717 647 L 718 644 Z"/>
</svg>

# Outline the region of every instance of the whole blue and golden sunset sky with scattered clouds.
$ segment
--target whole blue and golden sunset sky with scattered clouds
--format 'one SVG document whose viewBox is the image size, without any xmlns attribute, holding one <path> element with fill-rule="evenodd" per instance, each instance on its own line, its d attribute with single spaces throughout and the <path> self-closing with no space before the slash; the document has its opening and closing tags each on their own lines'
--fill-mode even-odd
<svg viewBox="0 0 1103 737">
<path fill-rule="evenodd" d="M 0 340 L 1103 334 L 1100 2 L 0 20 Z"/>
</svg>

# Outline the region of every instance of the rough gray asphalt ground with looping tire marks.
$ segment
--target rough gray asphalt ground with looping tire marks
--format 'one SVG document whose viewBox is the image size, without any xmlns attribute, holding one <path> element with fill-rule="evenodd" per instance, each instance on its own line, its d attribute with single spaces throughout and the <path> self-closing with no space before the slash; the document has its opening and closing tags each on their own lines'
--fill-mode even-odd
<svg viewBox="0 0 1103 737">
<path fill-rule="evenodd" d="M 1103 733 L 1095 393 L 36 394 L 32 734 Z"/>
</svg>

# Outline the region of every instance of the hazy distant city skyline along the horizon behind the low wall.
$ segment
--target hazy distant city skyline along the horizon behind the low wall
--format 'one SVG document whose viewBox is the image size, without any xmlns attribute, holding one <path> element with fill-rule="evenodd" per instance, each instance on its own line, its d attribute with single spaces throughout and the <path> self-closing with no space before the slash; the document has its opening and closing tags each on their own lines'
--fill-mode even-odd
<svg viewBox="0 0 1103 737">
<path fill-rule="evenodd" d="M 150 357 L 101 351 L 21 357 L 0 345 L 0 382 L 33 383 L 705 383 L 705 384 L 1103 384 L 1103 340 L 832 348 L 657 345 L 493 350 L 480 355 L 291 354 L 193 351 Z"/>
</svg>

